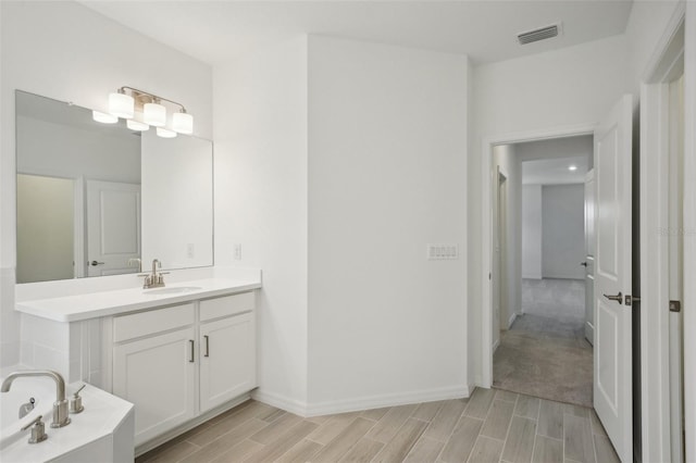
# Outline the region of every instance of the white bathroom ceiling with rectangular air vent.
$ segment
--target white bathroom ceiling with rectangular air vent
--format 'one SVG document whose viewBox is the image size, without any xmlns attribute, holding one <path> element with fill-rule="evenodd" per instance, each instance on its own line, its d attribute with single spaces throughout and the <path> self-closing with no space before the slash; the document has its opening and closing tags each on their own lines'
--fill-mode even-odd
<svg viewBox="0 0 696 463">
<path fill-rule="evenodd" d="M 303 34 L 502 61 L 622 34 L 631 0 L 234 1 L 83 0 L 86 7 L 208 64 Z M 557 22 L 562 34 L 519 46 L 517 35 Z"/>
</svg>

